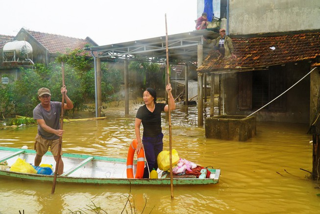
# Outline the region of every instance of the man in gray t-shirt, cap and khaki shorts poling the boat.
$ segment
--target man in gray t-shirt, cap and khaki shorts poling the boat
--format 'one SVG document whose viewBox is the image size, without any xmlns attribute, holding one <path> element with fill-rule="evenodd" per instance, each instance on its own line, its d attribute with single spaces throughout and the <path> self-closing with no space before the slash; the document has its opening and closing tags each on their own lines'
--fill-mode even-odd
<svg viewBox="0 0 320 214">
<path fill-rule="evenodd" d="M 61 94 L 65 93 L 64 109 L 72 109 L 74 107 L 72 101 L 67 96 L 66 86 L 61 88 Z M 33 109 L 33 119 L 37 120 L 38 123 L 38 134 L 34 143 L 34 149 L 37 154 L 34 159 L 34 165 L 39 166 L 42 157 L 46 154 L 50 147 L 50 151 L 57 161 L 59 158 L 59 137 L 62 136 L 63 130 L 60 130 L 60 113 L 61 113 L 61 102 L 51 101 L 51 92 L 49 88 L 40 88 L 38 90 L 38 98 L 40 104 Z M 62 155 L 62 150 L 60 151 Z M 57 166 L 56 166 L 57 167 Z M 60 156 L 58 175 L 63 173 L 63 161 Z"/>
</svg>

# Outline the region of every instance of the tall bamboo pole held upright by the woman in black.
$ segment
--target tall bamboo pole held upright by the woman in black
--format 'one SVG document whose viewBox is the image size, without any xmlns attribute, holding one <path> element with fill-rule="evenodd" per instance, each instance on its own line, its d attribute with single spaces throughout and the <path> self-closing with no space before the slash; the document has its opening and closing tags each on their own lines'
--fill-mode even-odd
<svg viewBox="0 0 320 214">
<path fill-rule="evenodd" d="M 167 55 L 167 84 L 170 83 L 169 73 L 169 51 L 168 51 L 168 29 L 167 29 L 167 14 L 166 18 L 166 55 Z M 169 108 L 169 151 L 170 151 L 170 186 L 171 186 L 171 199 L 173 199 L 173 173 L 172 173 L 172 132 L 171 132 L 171 107 L 170 107 L 170 93 L 168 93 L 168 108 Z"/>
</svg>

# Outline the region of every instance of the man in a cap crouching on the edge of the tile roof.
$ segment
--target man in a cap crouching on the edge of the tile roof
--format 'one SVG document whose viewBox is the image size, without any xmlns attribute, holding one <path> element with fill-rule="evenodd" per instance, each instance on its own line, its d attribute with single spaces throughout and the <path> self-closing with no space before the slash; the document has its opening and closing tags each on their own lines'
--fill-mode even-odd
<svg viewBox="0 0 320 214">
<path fill-rule="evenodd" d="M 229 36 L 225 35 L 225 29 L 221 28 L 219 30 L 220 36 L 216 39 L 205 39 L 207 44 L 213 44 L 213 50 L 219 54 L 218 59 L 223 56 L 224 59 L 236 58 L 237 56 L 233 54 L 232 40 Z"/>
</svg>

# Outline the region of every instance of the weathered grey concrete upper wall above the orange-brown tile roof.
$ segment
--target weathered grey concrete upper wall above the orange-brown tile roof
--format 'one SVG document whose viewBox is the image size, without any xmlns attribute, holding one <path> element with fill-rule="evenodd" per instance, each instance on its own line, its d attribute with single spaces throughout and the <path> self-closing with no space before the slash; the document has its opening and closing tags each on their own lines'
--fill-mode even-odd
<svg viewBox="0 0 320 214">
<path fill-rule="evenodd" d="M 320 29 L 320 0 L 229 0 L 229 34 Z"/>
</svg>

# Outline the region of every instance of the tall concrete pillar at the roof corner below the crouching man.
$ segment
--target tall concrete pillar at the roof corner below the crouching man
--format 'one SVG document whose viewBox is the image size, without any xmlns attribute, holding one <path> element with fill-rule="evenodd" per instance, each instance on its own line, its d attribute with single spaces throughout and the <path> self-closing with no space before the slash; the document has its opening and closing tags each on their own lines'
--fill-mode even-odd
<svg viewBox="0 0 320 214">
<path fill-rule="evenodd" d="M 203 45 L 197 46 L 197 65 L 200 67 L 203 62 Z M 203 75 L 198 72 L 198 126 L 203 126 Z"/>
</svg>

